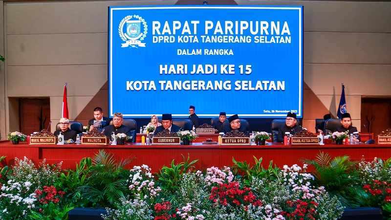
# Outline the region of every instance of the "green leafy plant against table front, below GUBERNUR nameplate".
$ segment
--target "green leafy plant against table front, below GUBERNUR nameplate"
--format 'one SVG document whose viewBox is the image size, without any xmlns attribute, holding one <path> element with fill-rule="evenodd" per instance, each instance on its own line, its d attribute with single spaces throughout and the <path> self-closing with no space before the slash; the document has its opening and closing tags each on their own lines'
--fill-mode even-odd
<svg viewBox="0 0 391 220">
<path fill-rule="evenodd" d="M 183 173 L 186 173 L 190 168 L 194 168 L 192 166 L 198 160 L 193 160 L 189 162 L 190 155 L 188 154 L 187 160 L 185 160 L 185 156 L 182 154 L 184 162 L 180 162 L 178 164 L 174 164 L 174 160 L 171 161 L 171 167 L 164 166 L 160 173 L 156 173 L 158 177 L 159 186 L 165 191 L 172 191 L 177 189 L 178 181 L 181 178 Z M 172 198 L 171 198 L 172 199 Z M 170 200 L 171 200 L 170 199 Z"/>
</svg>

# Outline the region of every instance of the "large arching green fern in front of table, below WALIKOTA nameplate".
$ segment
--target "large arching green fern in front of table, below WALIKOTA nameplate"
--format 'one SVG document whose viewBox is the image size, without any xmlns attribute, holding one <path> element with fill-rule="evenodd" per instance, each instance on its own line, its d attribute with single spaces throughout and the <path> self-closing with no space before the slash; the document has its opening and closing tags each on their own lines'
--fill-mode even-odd
<svg viewBox="0 0 391 220">
<path fill-rule="evenodd" d="M 125 169 L 135 157 L 116 161 L 111 153 L 99 150 L 92 159 L 92 165 L 87 169 L 84 184 L 76 190 L 83 199 L 91 202 L 92 207 L 111 207 L 119 198 L 125 197 L 130 171 Z"/>
</svg>

